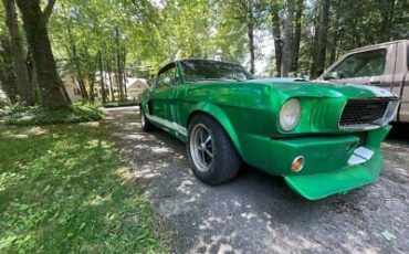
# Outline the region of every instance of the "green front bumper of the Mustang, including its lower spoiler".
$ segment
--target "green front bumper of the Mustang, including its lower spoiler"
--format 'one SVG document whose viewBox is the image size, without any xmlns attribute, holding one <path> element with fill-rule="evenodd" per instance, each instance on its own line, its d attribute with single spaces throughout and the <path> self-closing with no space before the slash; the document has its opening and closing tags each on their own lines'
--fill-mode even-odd
<svg viewBox="0 0 409 254">
<path fill-rule="evenodd" d="M 244 160 L 270 174 L 283 176 L 295 192 L 317 200 L 376 181 L 384 162 L 379 146 L 389 130 L 390 126 L 385 126 L 367 133 L 365 148 L 373 155 L 359 163 L 350 163 L 359 144 L 353 134 L 279 140 L 252 136 Z M 300 172 L 292 172 L 291 162 L 297 156 L 304 156 L 305 165 Z"/>
</svg>

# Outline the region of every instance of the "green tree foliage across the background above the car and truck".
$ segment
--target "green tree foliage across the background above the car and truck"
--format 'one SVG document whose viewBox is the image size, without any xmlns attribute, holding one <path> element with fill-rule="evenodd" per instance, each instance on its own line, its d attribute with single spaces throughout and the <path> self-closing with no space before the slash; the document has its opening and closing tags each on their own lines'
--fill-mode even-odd
<svg viewBox="0 0 409 254">
<path fill-rule="evenodd" d="M 102 53 L 105 72 L 117 72 L 123 67 L 118 67 L 118 62 L 124 61 L 128 76 L 145 78 L 150 78 L 159 66 L 175 59 L 203 57 L 243 64 L 250 55 L 247 34 L 249 22 L 253 22 L 255 57 L 265 61 L 272 57 L 265 70 L 273 73 L 280 70 L 274 63 L 274 49 L 271 47 L 269 54 L 258 43 L 268 40 L 274 44 L 271 36 L 274 9 L 279 17 L 276 23 L 282 30 L 274 36 L 279 44 L 283 44 L 283 9 L 287 2 L 59 0 L 48 27 L 61 73 L 73 75 L 88 85 L 95 83 L 97 88 L 99 82 L 95 73 L 98 72 L 98 52 Z M 293 71 L 295 75 L 304 75 L 311 73 L 312 62 L 316 57 L 324 0 L 291 2 L 301 2 L 303 10 L 300 57 Z M 326 66 L 348 50 L 409 36 L 407 0 L 332 0 L 329 6 L 328 35 L 323 45 L 326 47 Z M 4 32 L 1 8 L 0 34 Z M 297 9 L 295 6 L 289 8 Z M 291 24 L 293 30 L 296 25 L 294 22 Z M 292 36 L 294 34 L 295 31 Z"/>
</svg>

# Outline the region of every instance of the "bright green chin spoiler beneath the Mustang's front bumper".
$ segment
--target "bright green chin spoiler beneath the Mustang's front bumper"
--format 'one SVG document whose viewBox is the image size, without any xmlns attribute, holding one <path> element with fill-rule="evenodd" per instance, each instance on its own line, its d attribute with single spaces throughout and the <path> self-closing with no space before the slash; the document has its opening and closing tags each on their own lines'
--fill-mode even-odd
<svg viewBox="0 0 409 254">
<path fill-rule="evenodd" d="M 290 188 L 302 197 L 318 200 L 376 181 L 382 163 L 384 156 L 377 150 L 371 159 L 363 165 L 313 174 L 287 176 L 284 179 Z"/>
</svg>

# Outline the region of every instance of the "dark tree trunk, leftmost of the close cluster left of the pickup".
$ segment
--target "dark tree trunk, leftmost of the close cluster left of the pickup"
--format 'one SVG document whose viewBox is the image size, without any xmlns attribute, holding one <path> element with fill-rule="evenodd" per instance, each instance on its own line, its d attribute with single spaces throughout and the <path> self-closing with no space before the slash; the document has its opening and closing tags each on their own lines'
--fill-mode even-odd
<svg viewBox="0 0 409 254">
<path fill-rule="evenodd" d="M 277 76 L 281 76 L 281 62 L 282 62 L 282 40 L 281 40 L 281 24 L 279 17 L 277 1 L 271 4 L 271 21 L 273 23 L 273 38 L 274 38 L 274 53 L 275 53 L 275 68 Z"/>
</svg>

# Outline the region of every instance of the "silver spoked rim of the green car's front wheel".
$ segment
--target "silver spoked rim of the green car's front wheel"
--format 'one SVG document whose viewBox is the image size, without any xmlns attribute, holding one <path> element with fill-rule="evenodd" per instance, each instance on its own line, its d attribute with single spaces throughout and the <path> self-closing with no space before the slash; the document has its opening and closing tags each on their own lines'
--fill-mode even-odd
<svg viewBox="0 0 409 254">
<path fill-rule="evenodd" d="M 197 169 L 207 172 L 213 163 L 213 140 L 209 129 L 197 124 L 192 130 L 189 140 L 190 156 Z"/>
</svg>

